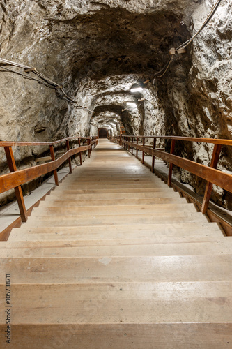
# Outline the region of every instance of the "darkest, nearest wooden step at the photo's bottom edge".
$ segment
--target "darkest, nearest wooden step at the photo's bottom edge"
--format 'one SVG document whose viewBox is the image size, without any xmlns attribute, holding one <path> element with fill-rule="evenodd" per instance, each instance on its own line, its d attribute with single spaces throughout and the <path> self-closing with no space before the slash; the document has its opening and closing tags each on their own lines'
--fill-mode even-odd
<svg viewBox="0 0 232 349">
<path fill-rule="evenodd" d="M 90 311 L 97 311 L 92 307 Z M 154 323 L 154 324 L 61 324 L 12 325 L 11 346 L 17 349 L 229 349 L 232 323 Z M 5 343 L 5 325 L 0 325 L 0 341 Z M 78 339 L 78 347 L 77 347 Z"/>
</svg>

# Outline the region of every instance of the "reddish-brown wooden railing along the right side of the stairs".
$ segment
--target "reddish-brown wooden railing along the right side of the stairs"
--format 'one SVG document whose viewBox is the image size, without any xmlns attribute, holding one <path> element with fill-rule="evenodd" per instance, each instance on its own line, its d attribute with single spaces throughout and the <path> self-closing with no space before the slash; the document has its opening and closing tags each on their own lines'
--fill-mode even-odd
<svg viewBox="0 0 232 349">
<path fill-rule="evenodd" d="M 152 138 L 153 145 L 146 146 L 145 139 Z M 164 151 L 164 149 L 156 148 L 157 139 L 171 140 L 171 149 L 170 152 Z M 139 144 L 141 140 L 141 144 Z M 200 142 L 200 143 L 210 143 L 215 144 L 212 152 L 212 158 L 210 166 L 202 165 L 194 161 L 188 160 L 186 158 L 181 158 L 180 156 L 174 155 L 175 152 L 175 142 L 177 140 L 187 141 L 187 142 Z M 130 151 L 130 148 L 136 150 L 136 157 L 138 157 L 138 151 L 142 151 L 142 163 L 144 163 L 144 154 L 150 154 L 152 156 L 152 167 L 151 170 L 154 172 L 155 166 L 155 156 L 161 158 L 164 161 L 169 163 L 169 174 L 167 184 L 171 186 L 171 176 L 173 165 L 183 168 L 196 176 L 206 179 L 206 191 L 203 198 L 203 203 L 201 206 L 201 211 L 205 214 L 208 210 L 208 205 L 210 201 L 210 195 L 212 193 L 212 185 L 216 184 L 217 186 L 225 189 L 232 193 L 232 175 L 226 172 L 217 170 L 217 163 L 219 161 L 219 154 L 222 148 L 222 145 L 232 146 L 232 140 L 219 140 L 212 138 L 189 138 L 189 137 L 176 137 L 176 136 L 136 136 L 136 135 L 123 135 L 121 138 L 116 137 L 112 138 L 111 141 L 117 142 L 122 147 Z"/>
</svg>

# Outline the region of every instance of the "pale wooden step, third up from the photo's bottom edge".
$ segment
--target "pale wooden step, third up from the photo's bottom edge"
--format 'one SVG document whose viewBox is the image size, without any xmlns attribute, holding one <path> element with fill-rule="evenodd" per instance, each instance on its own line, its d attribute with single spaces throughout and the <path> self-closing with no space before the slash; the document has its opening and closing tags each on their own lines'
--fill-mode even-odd
<svg viewBox="0 0 232 349">
<path fill-rule="evenodd" d="M 4 280 L 7 270 L 8 274 L 13 276 L 14 285 L 117 283 L 118 281 L 123 283 L 230 281 L 232 255 L 213 255 L 213 258 L 212 255 L 114 257 L 107 254 L 96 258 L 27 256 L 0 258 L 0 266 L 1 280 Z"/>
</svg>

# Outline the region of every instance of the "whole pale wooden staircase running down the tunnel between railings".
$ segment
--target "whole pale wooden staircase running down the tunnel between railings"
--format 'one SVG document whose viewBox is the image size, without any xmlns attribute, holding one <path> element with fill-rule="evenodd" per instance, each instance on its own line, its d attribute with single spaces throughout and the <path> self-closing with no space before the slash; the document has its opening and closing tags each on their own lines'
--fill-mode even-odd
<svg viewBox="0 0 232 349">
<path fill-rule="evenodd" d="M 107 140 L 1 242 L 11 348 L 232 348 L 232 238 Z"/>
</svg>

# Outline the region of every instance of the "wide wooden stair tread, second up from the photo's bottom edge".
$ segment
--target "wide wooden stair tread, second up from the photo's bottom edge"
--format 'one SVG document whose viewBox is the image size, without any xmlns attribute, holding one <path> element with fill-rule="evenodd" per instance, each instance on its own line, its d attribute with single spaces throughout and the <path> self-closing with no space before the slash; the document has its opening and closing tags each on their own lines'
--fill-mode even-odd
<svg viewBox="0 0 232 349">
<path fill-rule="evenodd" d="M 14 325 L 232 322 L 231 281 L 13 285 L 13 295 Z"/>
</svg>

